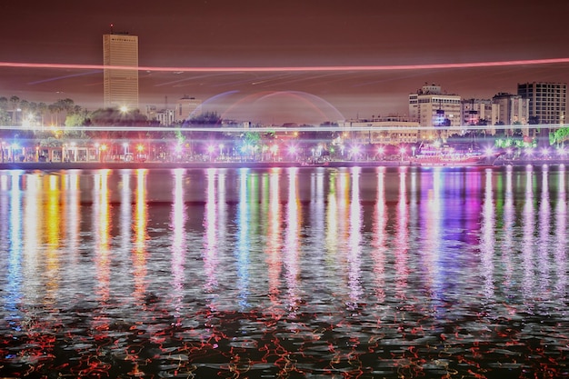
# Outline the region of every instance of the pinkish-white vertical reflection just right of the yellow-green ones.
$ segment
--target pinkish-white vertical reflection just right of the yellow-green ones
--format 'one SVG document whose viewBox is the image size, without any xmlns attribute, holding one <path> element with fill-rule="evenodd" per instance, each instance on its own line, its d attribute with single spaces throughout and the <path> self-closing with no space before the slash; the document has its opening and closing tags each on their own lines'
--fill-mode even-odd
<svg viewBox="0 0 569 379">
<path fill-rule="evenodd" d="M 348 243 L 348 285 L 351 306 L 357 306 L 362 296 L 362 205 L 360 204 L 360 167 L 352 168 L 352 198 L 350 203 L 350 239 Z"/>
</svg>

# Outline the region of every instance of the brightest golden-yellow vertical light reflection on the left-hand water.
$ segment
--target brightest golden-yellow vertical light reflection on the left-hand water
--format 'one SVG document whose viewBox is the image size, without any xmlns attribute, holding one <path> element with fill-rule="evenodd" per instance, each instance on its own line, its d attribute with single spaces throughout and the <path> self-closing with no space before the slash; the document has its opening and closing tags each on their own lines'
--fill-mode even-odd
<svg viewBox="0 0 569 379">
<path fill-rule="evenodd" d="M 45 254 L 45 302 L 55 304 L 59 282 L 59 247 L 61 244 L 60 176 L 47 176 L 45 228 L 47 250 Z"/>
</svg>

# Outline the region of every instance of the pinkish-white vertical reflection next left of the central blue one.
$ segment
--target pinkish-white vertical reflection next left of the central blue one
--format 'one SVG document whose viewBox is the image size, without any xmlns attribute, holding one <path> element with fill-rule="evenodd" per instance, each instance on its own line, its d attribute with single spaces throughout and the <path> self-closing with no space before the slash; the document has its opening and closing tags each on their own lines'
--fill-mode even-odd
<svg viewBox="0 0 569 379">
<path fill-rule="evenodd" d="M 205 227 L 205 242 L 204 242 L 204 265 L 205 265 L 205 276 L 207 277 L 205 282 L 205 291 L 210 293 L 215 290 L 217 285 L 217 280 L 215 278 L 215 267 L 217 265 L 217 215 L 216 215 L 216 200 L 215 200 L 215 178 L 216 169 L 209 168 L 205 173 L 207 179 L 207 200 L 205 202 L 205 215 L 204 215 L 204 227 Z"/>
</svg>

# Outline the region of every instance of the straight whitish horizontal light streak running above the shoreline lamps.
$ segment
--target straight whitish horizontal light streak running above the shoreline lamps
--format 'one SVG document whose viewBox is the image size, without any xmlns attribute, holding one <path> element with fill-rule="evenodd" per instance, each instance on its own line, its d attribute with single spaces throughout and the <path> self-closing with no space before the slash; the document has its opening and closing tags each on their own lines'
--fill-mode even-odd
<svg viewBox="0 0 569 379">
<path fill-rule="evenodd" d="M 448 132 L 466 132 L 471 130 L 516 129 L 520 126 L 534 128 L 559 129 L 569 127 L 569 124 L 543 124 L 543 125 L 465 125 L 465 126 L 259 126 L 259 127 L 223 127 L 223 126 L 0 126 L 0 130 L 32 130 L 43 132 L 219 132 L 219 133 L 270 133 L 270 132 L 382 132 L 382 131 L 433 131 L 444 130 Z"/>
</svg>

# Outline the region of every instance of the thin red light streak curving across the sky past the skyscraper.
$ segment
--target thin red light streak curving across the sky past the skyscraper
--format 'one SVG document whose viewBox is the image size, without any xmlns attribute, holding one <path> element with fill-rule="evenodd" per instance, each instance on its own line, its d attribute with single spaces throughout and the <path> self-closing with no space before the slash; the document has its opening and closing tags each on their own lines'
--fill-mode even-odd
<svg viewBox="0 0 569 379">
<path fill-rule="evenodd" d="M 511 65 L 556 65 L 569 63 L 569 58 L 527 59 L 515 61 L 471 62 L 450 64 L 424 64 L 424 65 L 318 65 L 318 66 L 235 66 L 235 67 L 151 67 L 151 66 L 125 66 L 125 65 L 75 65 L 25 62 L 0 62 L 0 67 L 15 68 L 64 68 L 77 70 L 138 70 L 138 71 L 164 71 L 164 72 L 193 72 L 193 73 L 227 73 L 227 72 L 323 72 L 323 71 L 395 71 L 395 70 L 429 70 L 447 68 L 477 68 L 500 67 Z"/>
</svg>

